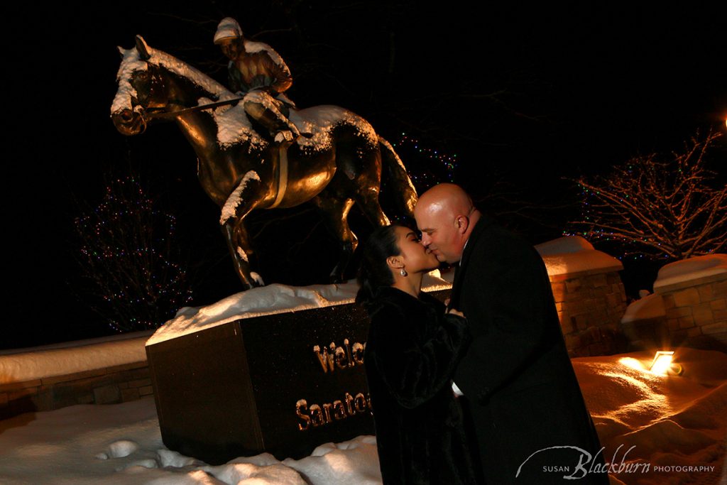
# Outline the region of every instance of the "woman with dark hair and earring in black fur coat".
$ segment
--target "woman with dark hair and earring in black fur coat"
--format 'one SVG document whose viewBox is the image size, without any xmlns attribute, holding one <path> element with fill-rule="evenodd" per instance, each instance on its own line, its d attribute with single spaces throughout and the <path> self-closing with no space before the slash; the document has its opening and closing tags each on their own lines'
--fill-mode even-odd
<svg viewBox="0 0 727 485">
<path fill-rule="evenodd" d="M 451 389 L 470 342 L 462 313 L 421 291 L 439 266 L 414 231 L 379 228 L 363 248 L 356 301 L 371 318 L 364 364 L 384 484 L 474 484 Z"/>
</svg>

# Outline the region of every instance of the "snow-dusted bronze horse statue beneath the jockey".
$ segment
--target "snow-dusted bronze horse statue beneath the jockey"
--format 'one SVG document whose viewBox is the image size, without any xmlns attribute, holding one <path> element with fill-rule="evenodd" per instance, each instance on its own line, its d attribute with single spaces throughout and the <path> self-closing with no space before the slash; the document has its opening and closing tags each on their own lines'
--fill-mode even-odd
<svg viewBox="0 0 727 485">
<path fill-rule="evenodd" d="M 265 129 L 256 130 L 236 95 L 206 74 L 171 55 L 136 46 L 119 51 L 123 59 L 111 118 L 124 135 L 145 131 L 148 122 L 173 119 L 198 157 L 198 177 L 221 208 L 220 225 L 245 289 L 257 286 L 245 217 L 254 209 L 294 207 L 312 202 L 341 244 L 331 281 L 343 272 L 357 239 L 348 212 L 358 204 L 374 225 L 389 219 L 379 205 L 382 173 L 402 216 L 412 217 L 417 193 L 393 148 L 371 125 L 350 111 L 324 105 L 297 110 L 290 119 L 306 133 L 287 150 Z"/>
</svg>

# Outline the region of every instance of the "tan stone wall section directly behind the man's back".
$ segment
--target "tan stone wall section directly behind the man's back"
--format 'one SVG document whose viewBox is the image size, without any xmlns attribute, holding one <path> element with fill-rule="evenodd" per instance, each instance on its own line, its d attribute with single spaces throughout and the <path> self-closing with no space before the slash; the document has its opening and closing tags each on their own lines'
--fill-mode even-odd
<svg viewBox="0 0 727 485">
<path fill-rule="evenodd" d="M 550 276 L 555 307 L 571 357 L 623 350 L 619 322 L 626 310 L 621 266 Z"/>
</svg>

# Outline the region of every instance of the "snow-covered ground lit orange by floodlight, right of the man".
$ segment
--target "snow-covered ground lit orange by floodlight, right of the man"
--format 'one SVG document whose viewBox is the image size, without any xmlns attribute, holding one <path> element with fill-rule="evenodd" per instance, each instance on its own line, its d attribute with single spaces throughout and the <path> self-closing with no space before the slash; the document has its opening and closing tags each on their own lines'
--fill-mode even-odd
<svg viewBox="0 0 727 485">
<path fill-rule="evenodd" d="M 648 473 L 616 473 L 627 484 L 717 484 L 725 462 L 727 354 L 678 348 L 680 376 L 648 372 L 653 357 L 573 359 L 606 461 L 619 464 L 626 455 L 625 462 L 649 465 Z"/>
</svg>

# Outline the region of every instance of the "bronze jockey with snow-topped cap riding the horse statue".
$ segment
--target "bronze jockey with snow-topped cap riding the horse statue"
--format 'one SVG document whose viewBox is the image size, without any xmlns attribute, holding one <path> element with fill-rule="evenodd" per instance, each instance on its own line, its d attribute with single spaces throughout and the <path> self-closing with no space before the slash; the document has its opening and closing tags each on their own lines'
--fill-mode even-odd
<svg viewBox="0 0 727 485">
<path fill-rule="evenodd" d="M 294 103 L 284 94 L 293 84 L 290 69 L 268 44 L 244 39 L 237 20 L 225 17 L 217 25 L 214 44 L 230 59 L 230 87 L 243 97 L 248 116 L 268 129 L 278 145 L 290 145 L 300 136 L 289 120 Z"/>
</svg>

